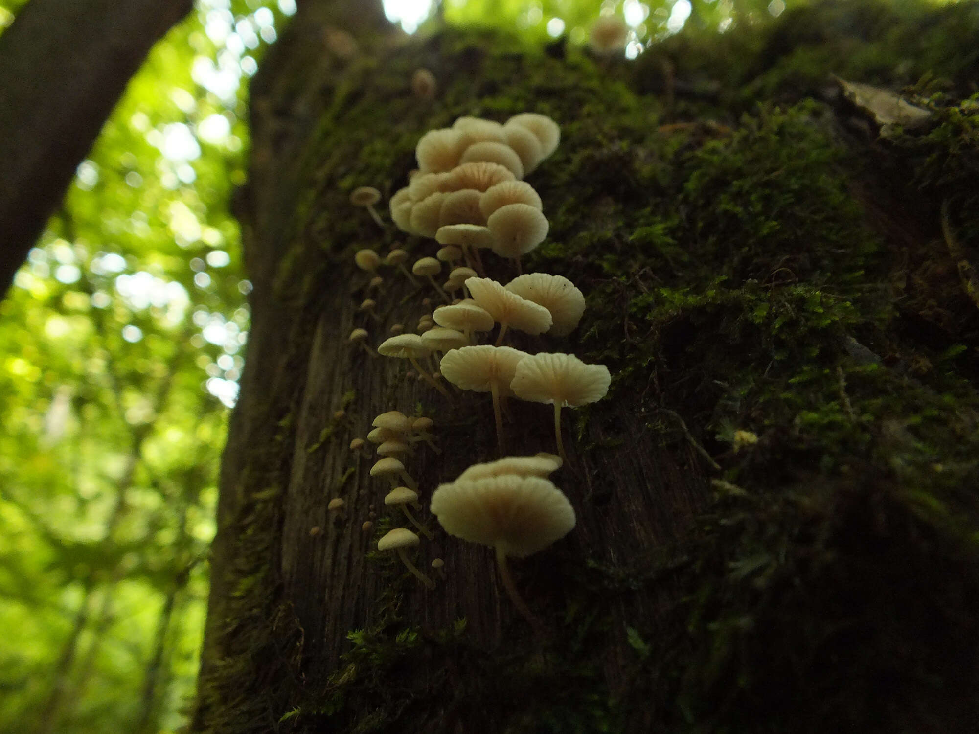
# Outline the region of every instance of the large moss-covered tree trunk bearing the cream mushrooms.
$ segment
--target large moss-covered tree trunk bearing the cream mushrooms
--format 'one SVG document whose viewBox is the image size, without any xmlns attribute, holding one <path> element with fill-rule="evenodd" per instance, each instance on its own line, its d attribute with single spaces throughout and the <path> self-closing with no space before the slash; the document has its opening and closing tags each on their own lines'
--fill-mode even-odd
<svg viewBox="0 0 979 734">
<path fill-rule="evenodd" d="M 314 7 L 253 87 L 236 204 L 254 320 L 193 730 L 969 730 L 979 222 L 962 181 L 979 120 L 948 70 L 967 52 L 912 60 L 950 86 L 925 128 L 884 140 L 860 110 L 811 98 L 827 71 L 861 69 L 812 59 L 862 44 L 878 69 L 863 78 L 888 81 L 923 17 L 863 6 L 877 16 L 862 37 L 818 17 L 793 40 L 786 14 L 764 36 L 675 39 L 629 66 L 485 34 L 402 41 L 376 13 Z M 928 19 L 960 28 L 973 11 Z M 433 101 L 411 93 L 422 67 Z M 400 521 L 374 457 L 349 448 L 383 411 L 432 417 L 443 453 L 406 462 L 423 498 L 495 458 L 487 395 L 447 400 L 350 348 L 356 327 L 373 344 L 413 330 L 437 296 L 389 269 L 379 320 L 357 311 L 353 252 L 435 245 L 382 232 L 348 197 L 403 186 L 427 129 L 525 111 L 562 141 L 529 178 L 551 229 L 524 264 L 571 278 L 588 307 L 566 340 L 513 344 L 614 376 L 605 400 L 566 411 L 554 480 L 577 528 L 512 567 L 542 638 L 490 550 L 427 509 L 436 540 L 414 559 L 444 559 L 434 591 L 378 554 Z M 515 453 L 554 450 L 548 406 L 511 401 L 507 429 Z"/>
</svg>

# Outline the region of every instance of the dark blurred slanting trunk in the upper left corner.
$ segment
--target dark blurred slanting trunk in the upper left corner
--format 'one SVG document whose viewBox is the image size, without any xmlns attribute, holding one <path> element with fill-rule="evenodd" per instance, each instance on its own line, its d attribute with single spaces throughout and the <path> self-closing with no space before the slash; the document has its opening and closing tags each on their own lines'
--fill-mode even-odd
<svg viewBox="0 0 979 734">
<path fill-rule="evenodd" d="M 192 0 L 31 0 L 0 35 L 0 297 L 150 48 Z"/>
</svg>

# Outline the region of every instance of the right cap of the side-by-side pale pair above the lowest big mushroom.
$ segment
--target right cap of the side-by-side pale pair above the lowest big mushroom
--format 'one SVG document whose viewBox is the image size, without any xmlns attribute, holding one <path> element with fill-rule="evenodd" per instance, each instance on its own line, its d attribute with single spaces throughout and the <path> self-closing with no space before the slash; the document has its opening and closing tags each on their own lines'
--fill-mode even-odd
<svg viewBox="0 0 979 734">
<path fill-rule="evenodd" d="M 577 408 L 605 397 L 611 381 L 604 364 L 585 364 L 574 354 L 541 353 L 517 365 L 510 389 L 523 400 Z"/>
</svg>

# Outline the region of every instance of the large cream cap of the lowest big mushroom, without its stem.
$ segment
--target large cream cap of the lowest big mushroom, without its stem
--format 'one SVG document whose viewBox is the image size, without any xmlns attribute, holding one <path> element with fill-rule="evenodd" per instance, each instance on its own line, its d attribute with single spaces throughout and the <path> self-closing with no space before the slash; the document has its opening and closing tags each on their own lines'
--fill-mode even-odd
<svg viewBox="0 0 979 734">
<path fill-rule="evenodd" d="M 449 535 L 524 557 L 575 527 L 575 510 L 554 484 L 540 477 L 503 475 L 441 484 L 432 513 Z"/>
</svg>

